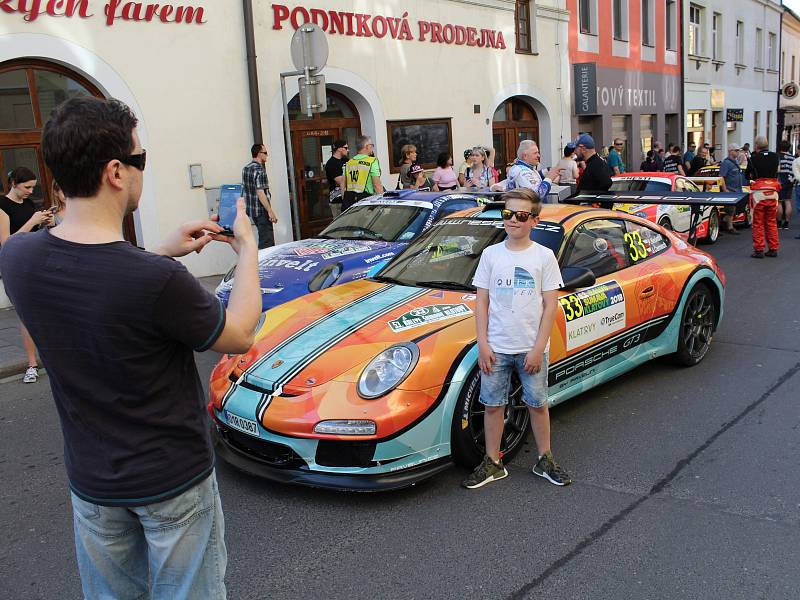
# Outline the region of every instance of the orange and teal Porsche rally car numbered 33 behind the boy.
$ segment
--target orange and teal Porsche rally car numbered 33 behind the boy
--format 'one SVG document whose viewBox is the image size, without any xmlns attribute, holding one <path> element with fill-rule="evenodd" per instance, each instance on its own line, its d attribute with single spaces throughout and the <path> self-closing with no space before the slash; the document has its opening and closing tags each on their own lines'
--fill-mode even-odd
<svg viewBox="0 0 800 600">
<path fill-rule="evenodd" d="M 394 489 L 483 454 L 472 276 L 505 238 L 500 204 L 441 220 L 360 281 L 265 313 L 246 354 L 214 369 L 208 409 L 221 458 L 272 480 Z M 725 277 L 674 233 L 617 211 L 545 205 L 533 238 L 564 278 L 553 328 L 557 404 L 656 356 L 699 363 Z M 518 386 L 517 386 L 518 387 Z M 528 431 L 520 392 L 503 451 Z"/>
</svg>

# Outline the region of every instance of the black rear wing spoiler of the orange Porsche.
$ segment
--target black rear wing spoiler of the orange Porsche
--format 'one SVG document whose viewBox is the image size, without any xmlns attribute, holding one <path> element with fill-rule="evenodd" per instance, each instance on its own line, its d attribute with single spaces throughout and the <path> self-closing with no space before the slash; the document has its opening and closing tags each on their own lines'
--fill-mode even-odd
<svg viewBox="0 0 800 600">
<path fill-rule="evenodd" d="M 619 202 L 622 204 L 690 206 L 692 218 L 689 222 L 688 242 L 694 245 L 697 242 L 697 227 L 703 219 L 703 209 L 706 206 L 736 206 L 739 202 L 747 200 L 748 195 L 736 192 L 589 192 L 577 194 L 564 202 L 568 204 Z"/>
</svg>

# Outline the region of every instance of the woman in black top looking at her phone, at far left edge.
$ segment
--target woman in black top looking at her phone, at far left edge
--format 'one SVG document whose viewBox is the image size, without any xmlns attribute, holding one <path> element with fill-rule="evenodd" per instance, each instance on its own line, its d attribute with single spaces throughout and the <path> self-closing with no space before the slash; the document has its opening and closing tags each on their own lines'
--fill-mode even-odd
<svg viewBox="0 0 800 600">
<path fill-rule="evenodd" d="M 18 231 L 34 231 L 52 218 L 49 210 L 37 211 L 30 199 L 36 187 L 33 171 L 17 167 L 8 174 L 8 180 L 10 189 L 5 196 L 0 196 L 0 246 Z M 22 381 L 34 383 L 39 378 L 36 345 L 23 325 L 20 325 L 20 333 L 25 354 L 28 355 L 28 370 Z"/>
</svg>

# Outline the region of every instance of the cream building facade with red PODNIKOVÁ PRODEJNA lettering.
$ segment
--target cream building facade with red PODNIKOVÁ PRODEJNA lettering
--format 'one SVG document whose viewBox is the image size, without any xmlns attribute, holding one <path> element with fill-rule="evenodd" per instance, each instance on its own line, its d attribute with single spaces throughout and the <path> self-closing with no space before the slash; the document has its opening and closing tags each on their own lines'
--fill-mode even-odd
<svg viewBox="0 0 800 600">
<path fill-rule="evenodd" d="M 323 165 L 338 137 L 351 149 L 357 135 L 373 137 L 389 189 L 404 143 L 419 147 L 427 168 L 440 152 L 458 167 L 474 145 L 494 146 L 503 167 L 523 139 L 539 142 L 543 162 L 552 164 L 571 137 L 560 83 L 569 69 L 561 50 L 569 17 L 557 0 L 303 1 L 4 2 L 0 172 L 32 168 L 40 175 L 35 200 L 49 205 L 40 142 L 50 111 L 74 95 L 123 100 L 139 117 L 148 150 L 141 205 L 126 236 L 149 248 L 179 223 L 207 216 L 221 184 L 240 181 L 260 127 L 281 243 L 330 221 Z M 256 89 L 247 67 L 248 5 Z M 328 109 L 306 115 L 298 78 L 286 79 L 299 189 L 293 201 L 280 73 L 295 70 L 291 40 L 305 22 L 327 37 Z M 182 260 L 203 276 L 226 271 L 233 255 L 212 244 Z"/>
</svg>

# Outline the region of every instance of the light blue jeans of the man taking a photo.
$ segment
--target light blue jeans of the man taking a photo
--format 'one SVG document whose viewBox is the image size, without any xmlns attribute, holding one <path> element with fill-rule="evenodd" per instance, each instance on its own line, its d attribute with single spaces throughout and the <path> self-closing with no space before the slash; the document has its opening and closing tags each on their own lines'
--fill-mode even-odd
<svg viewBox="0 0 800 600">
<path fill-rule="evenodd" d="M 228 553 L 214 472 L 180 496 L 146 506 L 71 496 L 87 600 L 225 598 Z"/>
</svg>

